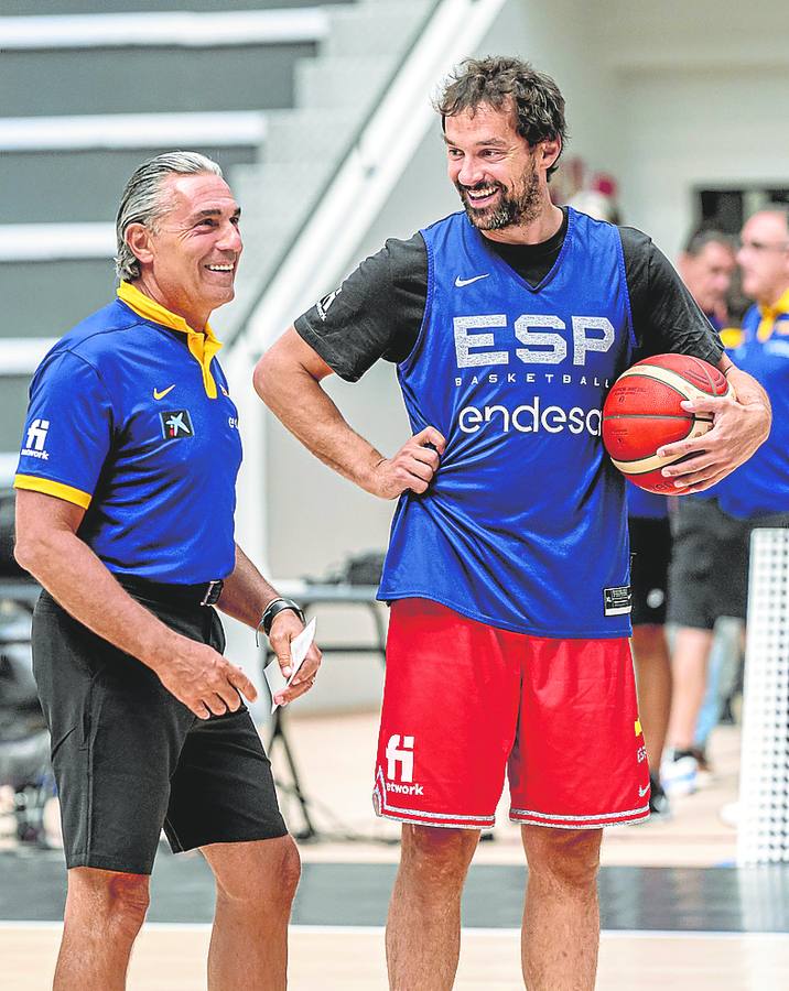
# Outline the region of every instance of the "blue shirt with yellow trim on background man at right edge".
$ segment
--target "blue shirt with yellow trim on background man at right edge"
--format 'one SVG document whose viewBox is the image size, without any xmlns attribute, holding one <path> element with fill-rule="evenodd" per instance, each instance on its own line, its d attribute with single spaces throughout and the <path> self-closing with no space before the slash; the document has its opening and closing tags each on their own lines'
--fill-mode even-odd
<svg viewBox="0 0 789 991">
<path fill-rule="evenodd" d="M 721 509 L 739 519 L 789 512 L 789 290 L 775 306 L 752 306 L 738 340 L 727 340 L 727 349 L 766 390 L 772 428 L 756 454 L 713 492 Z"/>
</svg>

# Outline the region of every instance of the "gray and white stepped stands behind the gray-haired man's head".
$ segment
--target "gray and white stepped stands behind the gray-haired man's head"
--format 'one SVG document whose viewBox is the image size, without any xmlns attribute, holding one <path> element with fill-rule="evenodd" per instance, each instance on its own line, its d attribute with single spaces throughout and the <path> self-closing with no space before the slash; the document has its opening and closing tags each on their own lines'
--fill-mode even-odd
<svg viewBox="0 0 789 991">
<path fill-rule="evenodd" d="M 112 221 L 133 168 L 173 148 L 219 162 L 244 207 L 242 313 L 435 2 L 169 0 L 163 13 L 61 0 L 57 17 L 12 3 L 0 18 L 0 453 L 18 447 L 37 357 L 111 297 Z"/>
</svg>

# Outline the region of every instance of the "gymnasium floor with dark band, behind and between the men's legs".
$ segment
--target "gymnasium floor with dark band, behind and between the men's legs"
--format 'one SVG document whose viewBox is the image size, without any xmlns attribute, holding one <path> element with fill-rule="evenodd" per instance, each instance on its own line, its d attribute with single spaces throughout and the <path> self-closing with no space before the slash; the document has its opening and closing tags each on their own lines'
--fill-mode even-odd
<svg viewBox="0 0 789 991">
<path fill-rule="evenodd" d="M 291 939 L 290 987 L 296 991 L 386 988 L 382 924 L 398 830 L 370 809 L 375 736 L 372 714 L 289 715 L 288 738 L 320 840 L 302 843 Z M 720 807 L 736 797 L 737 753 L 736 729 L 720 729 L 713 741 L 717 773 L 709 788 L 675 803 L 669 823 L 608 830 L 599 989 L 789 988 L 789 865 L 736 869 L 735 832 L 718 817 Z M 300 831 L 304 824 L 288 794 L 283 758 L 274 749 L 285 785 L 283 808 Z M 495 839 L 480 843 L 466 889 L 456 988 L 467 991 L 522 988 L 518 925 L 525 870 L 519 832 L 504 812 Z M 48 987 L 64 874 L 60 851 L 24 851 L 0 839 L 0 988 Z M 210 878 L 199 856 L 174 858 L 162 848 L 131 991 L 204 988 L 210 915 Z"/>
</svg>

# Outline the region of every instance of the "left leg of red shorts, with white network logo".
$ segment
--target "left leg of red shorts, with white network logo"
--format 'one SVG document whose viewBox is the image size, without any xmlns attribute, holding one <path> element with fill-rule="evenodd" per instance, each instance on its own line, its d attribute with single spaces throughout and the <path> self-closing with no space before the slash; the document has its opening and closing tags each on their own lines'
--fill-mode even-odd
<svg viewBox="0 0 789 991">
<path fill-rule="evenodd" d="M 372 796 L 379 815 L 493 826 L 518 721 L 520 671 L 506 649 L 517 638 L 424 599 L 392 605 Z"/>
</svg>

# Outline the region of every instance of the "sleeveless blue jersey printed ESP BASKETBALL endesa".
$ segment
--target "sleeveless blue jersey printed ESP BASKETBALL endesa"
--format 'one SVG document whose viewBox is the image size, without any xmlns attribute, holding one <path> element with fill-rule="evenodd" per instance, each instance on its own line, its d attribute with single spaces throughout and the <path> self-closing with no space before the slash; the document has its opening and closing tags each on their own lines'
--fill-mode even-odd
<svg viewBox="0 0 789 991">
<path fill-rule="evenodd" d="M 398 375 L 412 431 L 447 444 L 428 492 L 400 500 L 380 598 L 541 636 L 628 635 L 625 482 L 601 439 L 635 345 L 617 229 L 570 210 L 537 286 L 464 214 L 422 237 L 428 301 Z"/>
</svg>

